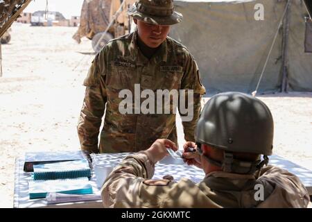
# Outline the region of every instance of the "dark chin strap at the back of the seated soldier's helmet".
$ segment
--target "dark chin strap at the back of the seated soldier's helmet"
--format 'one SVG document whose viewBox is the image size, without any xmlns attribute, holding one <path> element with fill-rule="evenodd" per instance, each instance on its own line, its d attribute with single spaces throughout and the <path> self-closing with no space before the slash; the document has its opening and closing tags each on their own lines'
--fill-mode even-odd
<svg viewBox="0 0 312 222">
<path fill-rule="evenodd" d="M 197 144 L 200 147 L 201 144 Z M 263 155 L 263 160 L 259 159 L 254 162 L 236 160 L 233 153 L 224 151 L 223 161 L 218 161 L 203 155 L 201 148 L 198 148 L 198 153 L 204 157 L 209 163 L 221 167 L 221 169 L 228 173 L 252 174 L 259 171 L 264 165 L 268 165 L 268 156 Z"/>
</svg>

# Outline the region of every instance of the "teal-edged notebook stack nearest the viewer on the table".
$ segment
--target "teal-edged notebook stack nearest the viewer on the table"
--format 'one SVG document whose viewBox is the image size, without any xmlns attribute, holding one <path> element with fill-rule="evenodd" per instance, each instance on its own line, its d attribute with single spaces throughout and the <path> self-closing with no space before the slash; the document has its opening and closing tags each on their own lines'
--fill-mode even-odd
<svg viewBox="0 0 312 222">
<path fill-rule="evenodd" d="M 32 180 L 28 182 L 29 198 L 46 198 L 47 193 L 92 194 L 88 178 L 68 180 Z"/>
</svg>

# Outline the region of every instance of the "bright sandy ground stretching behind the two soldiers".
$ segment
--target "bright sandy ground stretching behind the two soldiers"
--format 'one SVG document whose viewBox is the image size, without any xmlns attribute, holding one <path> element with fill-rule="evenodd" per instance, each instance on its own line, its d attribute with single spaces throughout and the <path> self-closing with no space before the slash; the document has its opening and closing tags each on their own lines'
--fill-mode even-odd
<svg viewBox="0 0 312 222">
<path fill-rule="evenodd" d="M 2 46 L 0 207 L 12 207 L 15 158 L 28 151 L 76 150 L 76 125 L 94 58 L 76 28 L 13 24 Z M 275 153 L 312 170 L 312 93 L 260 96 L 275 119 Z M 183 142 L 179 124 L 180 144 Z"/>
</svg>

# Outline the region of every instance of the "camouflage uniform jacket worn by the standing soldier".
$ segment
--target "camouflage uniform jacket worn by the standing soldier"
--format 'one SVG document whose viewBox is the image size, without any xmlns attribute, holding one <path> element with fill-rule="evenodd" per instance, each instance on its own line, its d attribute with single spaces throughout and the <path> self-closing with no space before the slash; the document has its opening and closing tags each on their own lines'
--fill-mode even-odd
<svg viewBox="0 0 312 222">
<path fill-rule="evenodd" d="M 99 144 L 101 153 L 145 150 L 159 138 L 168 138 L 177 143 L 173 109 L 170 114 L 143 114 L 140 110 L 137 113 L 137 110 L 131 108 L 134 110 L 132 114 L 122 114 L 119 105 L 126 96 L 120 98 L 119 93 L 123 94 L 123 89 L 128 89 L 127 92 L 132 94 L 130 100 L 133 107 L 137 96 L 139 104 L 143 105 L 146 99 L 138 94 L 144 89 L 152 90 L 155 98 L 159 89 L 176 89 L 178 92 L 179 89 L 193 89 L 193 118 L 182 124 L 185 139 L 194 141 L 200 98 L 205 94 L 205 87 L 200 83 L 198 66 L 189 51 L 170 37 L 159 46 L 150 60 L 139 51 L 137 31 L 112 40 L 92 62 L 84 85 L 85 99 L 78 123 L 83 150 L 98 153 L 98 133 L 104 112 L 105 120 Z M 139 85 L 139 91 L 135 85 Z M 186 96 L 188 95 L 187 93 Z M 173 96 L 170 103 L 173 104 Z"/>
</svg>

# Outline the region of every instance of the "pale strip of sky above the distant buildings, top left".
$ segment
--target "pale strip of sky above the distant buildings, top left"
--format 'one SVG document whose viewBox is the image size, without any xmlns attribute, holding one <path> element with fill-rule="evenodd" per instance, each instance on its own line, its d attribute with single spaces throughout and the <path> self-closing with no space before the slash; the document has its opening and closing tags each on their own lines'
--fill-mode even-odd
<svg viewBox="0 0 312 222">
<path fill-rule="evenodd" d="M 64 17 L 70 19 L 73 15 L 80 16 L 83 0 L 48 0 L 48 10 L 61 12 Z M 24 12 L 35 12 L 46 9 L 46 0 L 33 0 L 25 8 Z"/>
</svg>

